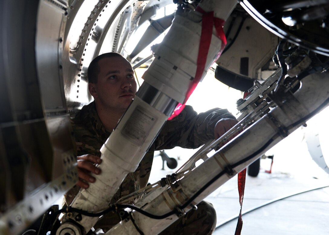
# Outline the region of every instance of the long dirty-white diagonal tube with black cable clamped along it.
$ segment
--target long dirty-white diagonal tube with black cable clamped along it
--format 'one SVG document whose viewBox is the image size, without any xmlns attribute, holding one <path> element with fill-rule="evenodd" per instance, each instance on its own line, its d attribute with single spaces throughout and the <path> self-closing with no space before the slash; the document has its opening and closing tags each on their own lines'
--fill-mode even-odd
<svg viewBox="0 0 329 235">
<path fill-rule="evenodd" d="M 192 203 L 192 205 L 199 203 L 216 188 L 297 129 L 302 124 L 300 120 L 304 121 L 304 117 L 308 117 L 309 114 L 317 111 L 318 107 L 322 107 L 323 103 L 329 99 L 328 74 L 328 72 L 323 72 L 306 77 L 294 96 L 291 95 L 290 99 L 274 108 L 239 136 L 224 145 L 199 167 L 179 180 L 176 183 L 178 189 L 177 186 L 168 188 L 151 202 L 148 201 L 143 210 L 151 214 L 162 215 L 172 211 L 177 205 L 183 207 L 187 203 Z M 231 171 L 227 170 L 230 168 Z M 221 174 L 222 172 L 225 173 Z M 214 177 L 217 175 L 220 177 L 215 179 Z M 214 182 L 210 187 L 203 190 L 204 185 L 208 186 L 209 182 L 212 181 Z M 200 189 L 203 192 L 196 195 Z M 163 190 L 163 188 L 157 190 Z M 190 201 L 191 199 L 192 201 Z M 142 200 L 147 200 L 147 196 Z M 139 204 L 142 204 L 142 201 Z M 186 208 L 186 211 L 190 208 L 190 206 Z M 144 234 L 158 234 L 178 218 L 176 215 L 172 215 L 166 220 L 155 220 L 140 213 L 132 213 L 136 226 Z M 124 234 L 120 233 L 121 227 L 124 227 L 125 231 L 131 231 L 130 234 L 138 234 L 134 232 L 135 226 L 128 228 L 129 225 L 126 222 L 116 225 L 106 234 L 114 234 L 112 231 L 115 231 L 115 234 Z"/>
</svg>

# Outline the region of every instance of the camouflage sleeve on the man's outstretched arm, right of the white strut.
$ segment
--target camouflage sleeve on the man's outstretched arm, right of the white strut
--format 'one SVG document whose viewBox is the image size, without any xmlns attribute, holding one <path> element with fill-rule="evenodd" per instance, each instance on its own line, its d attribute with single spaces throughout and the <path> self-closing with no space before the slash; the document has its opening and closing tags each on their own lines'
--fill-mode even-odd
<svg viewBox="0 0 329 235">
<path fill-rule="evenodd" d="M 235 119 L 227 109 L 215 108 L 197 114 L 191 106 L 187 105 L 180 115 L 164 124 L 154 142 L 154 150 L 176 146 L 197 148 L 215 138 L 215 125 L 222 118 Z"/>
</svg>

